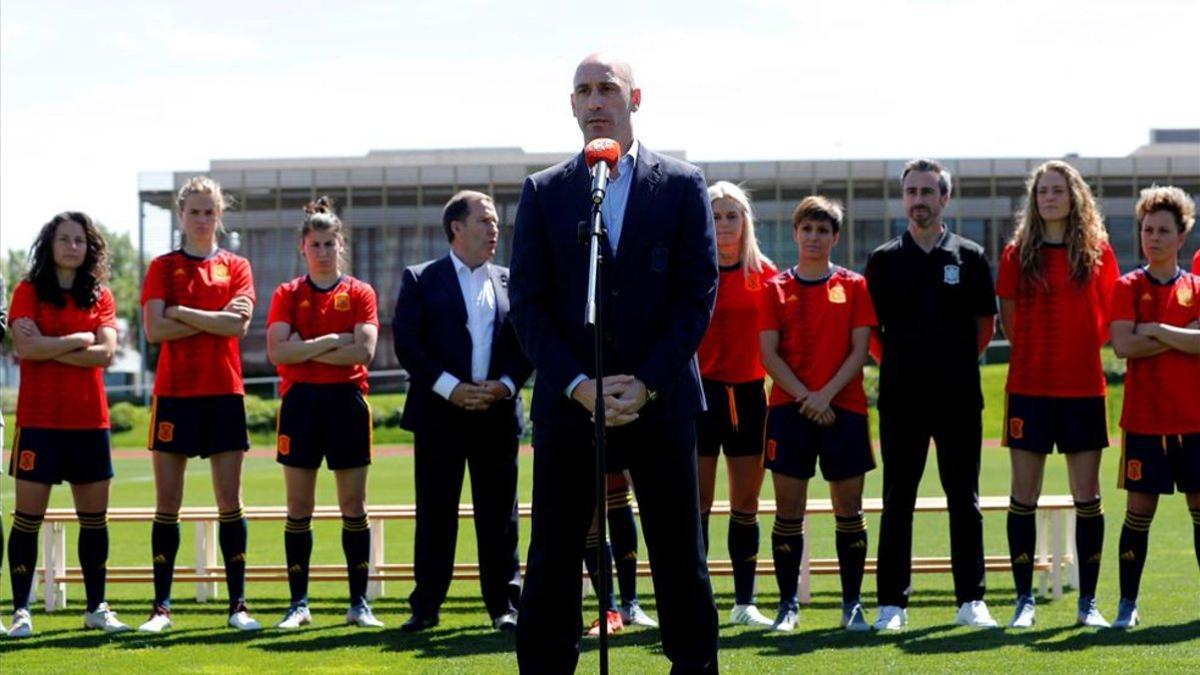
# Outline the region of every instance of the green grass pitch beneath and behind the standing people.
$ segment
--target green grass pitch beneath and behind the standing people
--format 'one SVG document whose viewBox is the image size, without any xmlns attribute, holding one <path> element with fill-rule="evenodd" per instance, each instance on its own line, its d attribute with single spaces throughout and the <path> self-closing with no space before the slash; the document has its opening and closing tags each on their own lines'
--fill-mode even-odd
<svg viewBox="0 0 1200 675">
<path fill-rule="evenodd" d="M 985 368 L 986 436 L 998 436 L 1002 411 L 1003 366 Z M 1110 398 L 1120 410 L 1120 387 Z M 1116 424 L 1112 416 L 1112 426 Z M 11 429 L 11 428 L 10 428 Z M 138 447 L 144 430 L 130 432 L 132 442 L 119 444 Z M 124 436 L 124 435 L 122 435 Z M 378 438 L 378 436 L 377 436 Z M 1124 510 L 1124 494 L 1115 489 L 1117 450 L 1106 453 L 1102 485 L 1106 503 L 1106 540 L 1104 567 L 1098 597 L 1102 610 L 1111 620 L 1117 601 L 1116 542 Z M 530 495 L 532 458 L 522 455 L 521 500 Z M 925 471 L 923 495 L 938 495 L 935 459 Z M 406 453 L 385 453 L 372 467 L 370 501 L 374 503 L 410 503 L 412 456 Z M 148 456 L 119 459 L 118 478 L 113 484 L 113 506 L 152 504 L 152 476 Z M 989 442 L 984 450 L 982 492 L 1008 494 L 1007 453 Z M 724 474 L 719 477 L 719 495 Z M 818 483 L 818 480 L 817 480 Z M 283 486 L 277 465 L 268 458 L 250 458 L 245 470 L 245 500 L 248 504 L 281 504 Z M 868 496 L 878 496 L 881 473 L 868 476 Z M 12 482 L 0 482 L 4 504 L 11 509 Z M 1045 494 L 1067 492 L 1066 467 L 1061 459 L 1048 462 Z M 816 497 L 826 488 L 815 484 L 810 491 Z M 769 478 L 764 498 L 772 497 Z M 334 488 L 328 472 L 323 472 L 318 488 L 319 503 L 334 503 Z M 188 470 L 186 504 L 212 503 L 208 466 L 196 462 Z M 54 507 L 70 507 L 68 490 L 55 490 Z M 770 516 L 762 519 L 763 542 L 768 540 Z M 458 534 L 458 560 L 474 560 L 474 533 L 464 522 Z M 528 542 L 528 521 L 523 521 L 522 549 Z M 316 525 L 313 562 L 341 562 L 341 545 L 336 522 Z M 869 518 L 872 537 L 871 550 L 878 532 L 878 519 Z M 815 557 L 833 557 L 833 519 L 815 518 L 810 522 L 808 542 Z M 6 520 L 7 530 L 7 520 Z M 947 519 L 944 515 L 917 516 L 914 551 L 918 555 L 948 555 Z M 74 537 L 74 527 L 70 537 Z M 251 563 L 283 561 L 283 525 L 253 522 L 251 525 L 248 557 Z M 1007 550 L 1004 515 L 989 514 L 985 520 L 986 550 L 1000 554 Z M 725 520 L 714 519 L 712 532 L 713 556 L 727 557 L 725 550 Z M 149 558 L 148 525 L 114 525 L 112 527 L 110 565 L 145 565 Z M 181 561 L 193 560 L 191 526 L 185 525 L 180 550 Z M 386 557 L 391 561 L 412 560 L 412 526 L 389 522 Z M 73 542 L 68 545 L 73 549 Z M 642 548 L 644 555 L 644 545 Z M 73 563 L 70 551 L 68 563 Z M 522 557 L 524 551 L 522 550 Z M 769 555 L 768 548 L 762 549 Z M 5 577 L 7 577 L 5 569 Z M 997 620 L 1007 621 L 1013 596 L 1012 579 L 1007 573 L 989 575 L 989 601 Z M 916 591 L 910 610 L 910 627 L 896 635 L 848 634 L 838 628 L 840 591 L 835 575 L 814 578 L 814 602 L 802 608 L 800 623 L 791 634 L 768 634 L 744 627 L 721 627 L 721 669 L 725 673 L 800 673 L 820 668 L 832 673 L 863 673 L 912 670 L 928 673 L 1012 671 L 1014 668 L 1049 673 L 1078 671 L 1195 671 L 1200 664 L 1200 574 L 1192 546 L 1192 530 L 1181 496 L 1165 498 L 1154 520 L 1151 554 L 1146 566 L 1140 599 L 1144 625 L 1135 631 L 1094 632 L 1073 626 L 1076 596 L 1068 592 L 1062 601 L 1039 601 L 1038 626 L 1031 631 L 974 632 L 953 626 L 954 608 L 949 575 L 914 575 Z M 0 603 L 7 607 L 8 581 L 0 583 Z M 0 639 L 0 671 L 4 673 L 62 673 L 95 669 L 122 671 L 190 671 L 190 673 L 512 673 L 516 670 L 512 639 L 491 631 L 487 615 L 479 601 L 478 585 L 473 581 L 455 583 L 450 599 L 443 608 L 442 625 L 427 633 L 404 635 L 397 631 L 407 617 L 404 598 L 410 583 L 389 583 L 385 597 L 374 603 L 376 614 L 388 623 L 382 631 L 342 627 L 344 584 L 314 584 L 312 587 L 314 626 L 295 633 L 266 629 L 260 634 L 234 633 L 223 627 L 224 603 L 197 604 L 193 587 L 175 587 L 175 628 L 163 635 L 125 634 L 107 637 L 79 629 L 82 625 L 83 589 L 70 589 L 67 610 L 44 614 L 35 609 L 36 635 L 28 640 Z M 758 579 L 760 605 L 768 611 L 776 599 L 774 579 Z M 643 605 L 655 613 L 649 579 L 641 580 Z M 722 622 L 733 602 L 732 580 L 715 578 L 714 590 Z M 869 619 L 874 619 L 874 578 L 864 583 Z M 222 591 L 223 593 L 223 591 Z M 248 589 L 251 608 L 264 623 L 277 621 L 287 605 L 284 584 L 258 584 Z M 149 610 L 149 585 L 112 584 L 109 599 L 128 623 L 144 620 Z M 595 603 L 586 603 L 588 617 Z M 5 611 L 7 615 L 7 611 Z M 7 625 L 7 616 L 5 616 Z M 584 643 L 580 671 L 596 670 L 594 643 Z M 612 640 L 613 673 L 665 673 L 666 661 L 659 650 L 656 631 L 628 629 Z"/>
</svg>

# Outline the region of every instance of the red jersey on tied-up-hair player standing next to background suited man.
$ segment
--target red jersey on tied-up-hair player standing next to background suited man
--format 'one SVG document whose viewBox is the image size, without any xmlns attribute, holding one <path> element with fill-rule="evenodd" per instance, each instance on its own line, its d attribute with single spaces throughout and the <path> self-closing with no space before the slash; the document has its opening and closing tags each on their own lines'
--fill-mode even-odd
<svg viewBox="0 0 1200 675">
<path fill-rule="evenodd" d="M 353 276 L 342 276 L 330 288 L 318 288 L 308 276 L 298 276 L 280 283 L 271 297 L 271 311 L 266 325 L 287 323 L 292 333 L 305 340 L 330 333 L 354 333 L 359 323 L 379 325 L 379 310 L 371 285 Z M 354 382 L 364 393 L 367 390 L 365 365 L 329 365 L 302 362 L 276 368 L 283 378 L 280 394 L 287 394 L 295 382 L 334 384 Z"/>
</svg>

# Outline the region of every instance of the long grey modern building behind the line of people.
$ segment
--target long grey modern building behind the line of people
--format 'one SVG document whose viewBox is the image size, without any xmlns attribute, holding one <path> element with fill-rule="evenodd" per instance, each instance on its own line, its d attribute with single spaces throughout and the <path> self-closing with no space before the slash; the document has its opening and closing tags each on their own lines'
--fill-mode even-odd
<svg viewBox="0 0 1200 675">
<path fill-rule="evenodd" d="M 684 156 L 683 153 L 668 153 Z M 265 317 L 275 286 L 302 274 L 296 249 L 301 207 L 334 197 L 348 226 L 352 273 L 379 293 L 384 325 L 374 368 L 395 368 L 390 323 L 401 271 L 448 250 L 442 207 L 463 189 L 492 195 L 502 221 L 498 261 L 509 257 L 521 185 L 529 173 L 569 154 L 533 154 L 518 148 L 371 151 L 361 157 L 214 160 L 206 171 L 143 177 L 139 198 L 149 250 L 166 249 L 178 228 L 174 191 L 197 174 L 218 180 L 236 208 L 224 225 L 238 252 L 250 258 L 259 298 L 251 336 L 244 344 L 247 371 L 268 370 Z M 954 198 L 944 214 L 955 232 L 984 245 L 996 261 L 1012 234 L 1030 171 L 1048 157 L 942 160 L 954 174 Z M 1133 219 L 1138 193 L 1153 184 L 1177 185 L 1200 198 L 1200 130 L 1156 130 L 1151 143 L 1124 157 L 1063 157 L 1084 174 L 1100 201 L 1109 237 L 1123 270 L 1139 261 Z M 791 214 L 808 195 L 846 205 L 847 226 L 835 261 L 862 269 L 872 249 L 904 231 L 899 175 L 906 160 L 814 160 L 698 162 L 712 180 L 731 180 L 754 198 L 763 249 L 781 264 L 796 257 Z M 157 210 L 157 209 L 162 210 Z M 146 217 L 148 214 L 158 217 Z M 169 225 L 168 225 L 169 222 Z M 1193 235 L 1187 255 L 1200 243 Z M 233 244 L 233 241 L 230 241 Z"/>
</svg>

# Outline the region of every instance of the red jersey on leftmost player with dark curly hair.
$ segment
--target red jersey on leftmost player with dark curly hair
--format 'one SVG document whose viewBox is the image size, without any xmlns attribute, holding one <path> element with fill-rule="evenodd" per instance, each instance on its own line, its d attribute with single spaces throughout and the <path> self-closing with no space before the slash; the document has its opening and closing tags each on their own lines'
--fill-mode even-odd
<svg viewBox="0 0 1200 675">
<path fill-rule="evenodd" d="M 77 306 L 71 295 L 64 295 L 66 306 L 56 307 L 41 301 L 34 285 L 22 281 L 12 293 L 8 318 L 34 319 L 42 335 L 48 338 L 95 333 L 106 325 L 116 328 L 116 303 L 108 288 L 101 288 L 96 304 L 88 309 Z M 80 368 L 53 359 L 20 359 L 17 426 L 108 429 L 104 369 Z"/>
</svg>

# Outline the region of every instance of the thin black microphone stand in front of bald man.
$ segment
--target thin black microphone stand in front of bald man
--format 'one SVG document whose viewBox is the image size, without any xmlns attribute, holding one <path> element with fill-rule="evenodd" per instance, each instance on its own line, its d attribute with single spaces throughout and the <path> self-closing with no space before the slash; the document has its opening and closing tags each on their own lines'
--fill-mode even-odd
<svg viewBox="0 0 1200 675">
<path fill-rule="evenodd" d="M 604 168 L 601 168 L 604 171 Z M 601 192 L 601 199 L 602 199 Z M 610 568 L 606 562 L 605 543 L 608 540 L 606 518 L 608 508 L 608 483 L 607 470 L 605 467 L 605 405 L 604 405 L 604 307 L 601 305 L 602 287 L 600 276 L 601 265 L 601 241 L 607 237 L 604 227 L 604 216 L 600 214 L 601 201 L 593 199 L 592 203 L 592 227 L 588 233 L 590 240 L 588 249 L 588 304 L 584 311 L 583 322 L 593 327 L 595 336 L 595 381 L 596 402 L 593 419 L 595 420 L 595 448 L 596 448 L 596 522 L 599 527 L 598 537 L 600 545 L 596 548 L 596 598 L 600 601 L 600 675 L 608 675 L 608 608 L 605 607 L 605 598 L 608 597 Z"/>
</svg>

